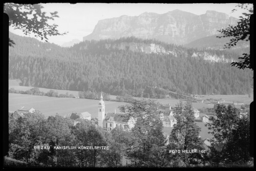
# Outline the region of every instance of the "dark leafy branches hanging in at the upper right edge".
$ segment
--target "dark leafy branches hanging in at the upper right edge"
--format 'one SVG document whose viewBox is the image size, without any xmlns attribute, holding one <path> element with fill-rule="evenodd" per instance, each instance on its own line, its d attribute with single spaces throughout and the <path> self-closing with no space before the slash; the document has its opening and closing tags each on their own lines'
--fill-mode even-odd
<svg viewBox="0 0 256 171">
<path fill-rule="evenodd" d="M 236 26 L 229 26 L 226 29 L 219 30 L 223 36 L 217 36 L 219 38 L 222 37 L 231 37 L 230 41 L 225 45 L 225 48 L 230 48 L 237 45 L 237 42 L 240 40 L 250 40 L 250 16 L 253 14 L 253 8 L 248 9 L 249 4 L 239 4 L 236 7 L 241 9 L 248 10 L 248 13 L 243 13 L 244 16 L 240 16 L 240 21 Z M 233 9 L 232 11 L 235 11 Z M 239 57 L 242 59 L 239 62 L 231 62 L 231 66 L 238 67 L 239 69 L 251 69 L 253 70 L 252 66 L 250 65 L 250 54 L 244 53 L 243 57 Z"/>
</svg>

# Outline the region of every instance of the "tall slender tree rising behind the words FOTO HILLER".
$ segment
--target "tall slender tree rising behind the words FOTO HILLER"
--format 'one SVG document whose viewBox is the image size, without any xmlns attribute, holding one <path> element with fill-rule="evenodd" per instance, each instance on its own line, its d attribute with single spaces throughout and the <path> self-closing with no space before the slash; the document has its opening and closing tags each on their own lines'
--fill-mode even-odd
<svg viewBox="0 0 256 171">
<path fill-rule="evenodd" d="M 180 101 L 174 111 L 177 123 L 169 136 L 169 150 L 191 151 L 202 150 L 202 140 L 199 138 L 200 127 L 195 123 L 194 110 L 188 101 L 185 105 Z M 175 153 L 172 155 L 172 164 L 175 166 L 200 165 L 204 162 L 201 153 Z"/>
</svg>

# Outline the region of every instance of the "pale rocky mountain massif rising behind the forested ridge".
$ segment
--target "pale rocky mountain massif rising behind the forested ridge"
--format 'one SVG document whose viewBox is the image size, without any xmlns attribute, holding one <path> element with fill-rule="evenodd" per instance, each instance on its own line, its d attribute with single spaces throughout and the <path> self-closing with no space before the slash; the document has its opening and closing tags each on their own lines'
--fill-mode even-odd
<svg viewBox="0 0 256 171">
<path fill-rule="evenodd" d="M 116 18 L 99 20 L 93 32 L 83 40 L 118 39 L 135 36 L 155 38 L 177 45 L 188 44 L 196 39 L 218 34 L 218 30 L 236 25 L 237 18 L 225 13 L 206 11 L 195 15 L 180 10 L 164 14 L 142 13 L 139 16 L 122 15 Z"/>
</svg>

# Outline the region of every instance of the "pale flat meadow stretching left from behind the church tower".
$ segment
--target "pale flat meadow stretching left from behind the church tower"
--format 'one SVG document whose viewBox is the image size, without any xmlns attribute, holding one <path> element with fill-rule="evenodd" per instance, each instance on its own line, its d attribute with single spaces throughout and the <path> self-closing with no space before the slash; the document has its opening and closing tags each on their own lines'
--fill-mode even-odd
<svg viewBox="0 0 256 171">
<path fill-rule="evenodd" d="M 58 113 L 64 116 L 71 112 L 89 112 L 92 118 L 98 115 L 99 100 L 77 99 L 77 98 L 58 98 L 48 96 L 36 96 L 28 94 L 9 93 L 9 111 L 16 111 L 22 106 L 34 108 L 45 116 L 55 116 Z M 119 112 L 118 106 L 125 102 L 105 101 L 105 111 Z"/>
</svg>

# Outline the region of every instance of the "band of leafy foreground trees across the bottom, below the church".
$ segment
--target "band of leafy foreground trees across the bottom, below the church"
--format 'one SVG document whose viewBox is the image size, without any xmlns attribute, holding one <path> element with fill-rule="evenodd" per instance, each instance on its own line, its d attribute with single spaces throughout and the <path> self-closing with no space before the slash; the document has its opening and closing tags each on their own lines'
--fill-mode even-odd
<svg viewBox="0 0 256 171">
<path fill-rule="evenodd" d="M 177 124 L 165 138 L 158 105 L 153 100 L 133 100 L 119 107 L 136 118 L 134 127 L 105 132 L 89 120 L 74 124 L 69 118 L 9 113 L 9 157 L 39 167 L 249 167 L 248 108 L 218 105 L 217 118 L 207 123 L 214 136 L 208 151 L 199 137 L 190 102 L 177 104 Z M 225 128 L 225 129 L 224 129 Z M 99 149 L 55 149 L 54 146 L 109 146 Z M 50 146 L 34 149 L 34 146 Z M 233 148 L 233 147 L 236 148 Z M 186 150 L 200 153 L 178 153 Z M 176 152 L 176 153 L 175 153 Z M 123 158 L 129 162 L 122 164 Z"/>
</svg>

